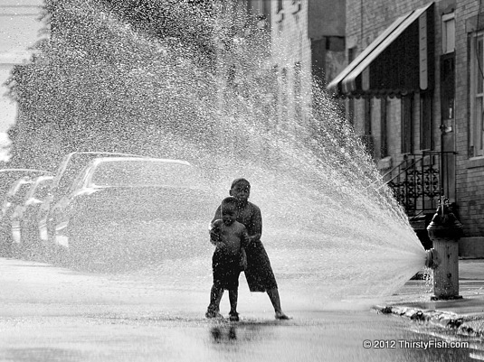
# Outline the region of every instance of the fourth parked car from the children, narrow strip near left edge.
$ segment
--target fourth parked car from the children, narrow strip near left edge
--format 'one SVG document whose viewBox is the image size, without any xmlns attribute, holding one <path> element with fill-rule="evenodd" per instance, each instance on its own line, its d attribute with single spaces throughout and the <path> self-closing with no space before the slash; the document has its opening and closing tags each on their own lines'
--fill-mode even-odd
<svg viewBox="0 0 484 362">
<path fill-rule="evenodd" d="M 29 176 L 24 176 L 14 181 L 14 184 L 5 195 L 0 211 L 0 249 L 5 256 L 12 256 L 12 214 L 14 213 L 15 207 L 24 201 L 25 194 L 32 184 L 33 179 Z"/>
</svg>

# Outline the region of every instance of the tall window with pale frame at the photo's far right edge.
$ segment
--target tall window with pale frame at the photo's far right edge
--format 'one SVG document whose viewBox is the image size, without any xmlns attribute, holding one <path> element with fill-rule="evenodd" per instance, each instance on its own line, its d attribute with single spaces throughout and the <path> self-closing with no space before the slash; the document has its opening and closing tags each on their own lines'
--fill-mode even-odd
<svg viewBox="0 0 484 362">
<path fill-rule="evenodd" d="M 470 36 L 470 157 L 484 155 L 483 32 Z"/>
</svg>

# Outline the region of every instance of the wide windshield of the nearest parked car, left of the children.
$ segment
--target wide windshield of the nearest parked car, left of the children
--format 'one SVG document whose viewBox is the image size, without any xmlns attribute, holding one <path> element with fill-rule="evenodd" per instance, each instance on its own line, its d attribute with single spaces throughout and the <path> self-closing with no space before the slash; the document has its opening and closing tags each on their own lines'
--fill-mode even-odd
<svg viewBox="0 0 484 362">
<path fill-rule="evenodd" d="M 101 162 L 90 183 L 95 186 L 168 186 L 200 188 L 203 181 L 195 167 L 176 162 Z"/>
</svg>

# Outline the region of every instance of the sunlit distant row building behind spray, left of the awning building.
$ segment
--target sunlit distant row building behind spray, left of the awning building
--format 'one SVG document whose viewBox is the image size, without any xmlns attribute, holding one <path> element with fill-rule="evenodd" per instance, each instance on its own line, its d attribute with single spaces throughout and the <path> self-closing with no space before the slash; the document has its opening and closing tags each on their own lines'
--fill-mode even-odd
<svg viewBox="0 0 484 362">
<path fill-rule="evenodd" d="M 345 67 L 345 0 L 271 0 L 271 64 L 278 78 L 278 124 L 306 125 L 313 79 Z M 331 9 L 331 11 L 327 11 Z"/>
</svg>

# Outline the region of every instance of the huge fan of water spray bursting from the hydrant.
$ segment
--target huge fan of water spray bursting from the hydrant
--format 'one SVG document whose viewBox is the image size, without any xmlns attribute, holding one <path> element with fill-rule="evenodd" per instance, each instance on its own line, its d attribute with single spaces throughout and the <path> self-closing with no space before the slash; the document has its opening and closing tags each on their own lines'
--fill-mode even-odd
<svg viewBox="0 0 484 362">
<path fill-rule="evenodd" d="M 64 76 L 68 70 L 71 79 L 60 79 L 69 87 L 82 79 L 92 86 L 62 98 L 81 112 L 71 124 L 79 135 L 75 148 L 104 144 L 192 162 L 210 180 L 213 212 L 234 178 L 251 181 L 276 278 L 281 288 L 292 285 L 301 301 L 389 295 L 422 268 L 421 243 L 337 103 L 316 85 L 301 96 L 310 102 L 276 101 L 285 89 L 270 64 L 270 35 L 257 28 L 257 19 L 229 2 L 193 11 L 193 18 L 182 16 L 183 7 L 171 8 L 184 26 L 208 29 L 203 50 L 176 37 L 154 37 L 95 2 L 83 3 L 64 7 L 86 23 L 52 40 L 44 55 Z M 102 46 L 93 55 L 88 41 L 100 34 Z M 301 74 L 301 82 L 308 78 Z M 66 92 L 67 86 L 60 84 Z M 291 102 L 312 107 L 291 116 Z M 94 117 L 102 122 L 87 126 Z M 185 223 L 176 236 L 189 236 L 204 253 L 188 255 L 187 262 L 180 243 L 165 260 L 143 263 L 138 275 L 209 286 L 213 249 L 206 227 L 213 216 Z M 155 227 L 148 237 L 162 242 L 161 232 Z"/>
</svg>

